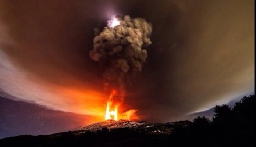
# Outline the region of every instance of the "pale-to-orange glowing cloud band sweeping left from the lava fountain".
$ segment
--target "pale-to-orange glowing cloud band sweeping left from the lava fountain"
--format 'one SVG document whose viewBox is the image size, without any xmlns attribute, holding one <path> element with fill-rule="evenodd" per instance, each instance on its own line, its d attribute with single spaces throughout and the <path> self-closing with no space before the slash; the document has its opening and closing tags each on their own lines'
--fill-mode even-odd
<svg viewBox="0 0 256 147">
<path fill-rule="evenodd" d="M 3 85 L 4 92 L 13 96 L 10 97 L 11 99 L 35 103 L 52 110 L 89 116 L 88 120 L 81 120 L 81 122 L 104 120 L 109 96 L 103 93 L 103 89 L 100 91 L 100 89 L 86 85 L 79 80 L 68 79 L 70 77 L 65 77 L 65 80 L 74 82 L 72 86 L 49 83 L 15 68 L 1 51 L 0 57 L 0 61 L 3 60 L 0 64 L 5 69 L 1 72 L 3 76 L 0 77 L 2 81 L 0 86 Z M 123 112 L 125 111 L 123 105 L 120 108 L 118 109 L 120 111 L 118 119 L 132 118 L 130 113 L 127 115 L 126 112 Z"/>
</svg>

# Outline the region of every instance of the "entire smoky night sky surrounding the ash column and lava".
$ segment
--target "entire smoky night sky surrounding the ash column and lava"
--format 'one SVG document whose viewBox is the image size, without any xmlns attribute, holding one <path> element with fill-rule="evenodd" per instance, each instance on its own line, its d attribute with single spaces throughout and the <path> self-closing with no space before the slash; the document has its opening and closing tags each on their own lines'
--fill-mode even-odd
<svg viewBox="0 0 256 147">
<path fill-rule="evenodd" d="M 0 0 L 0 138 L 103 120 L 108 96 L 89 51 L 114 15 L 153 28 L 121 112 L 191 120 L 254 93 L 253 0 Z"/>
</svg>

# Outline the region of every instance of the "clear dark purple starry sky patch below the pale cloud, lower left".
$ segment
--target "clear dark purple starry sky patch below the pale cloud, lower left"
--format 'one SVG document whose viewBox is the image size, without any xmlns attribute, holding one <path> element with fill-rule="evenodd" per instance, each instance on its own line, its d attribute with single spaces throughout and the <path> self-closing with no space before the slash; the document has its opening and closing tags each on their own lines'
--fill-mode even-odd
<svg viewBox="0 0 256 147">
<path fill-rule="evenodd" d="M 89 117 L 85 115 L 49 110 L 0 97 L 0 138 L 74 130 L 86 124 L 86 119 Z"/>
</svg>

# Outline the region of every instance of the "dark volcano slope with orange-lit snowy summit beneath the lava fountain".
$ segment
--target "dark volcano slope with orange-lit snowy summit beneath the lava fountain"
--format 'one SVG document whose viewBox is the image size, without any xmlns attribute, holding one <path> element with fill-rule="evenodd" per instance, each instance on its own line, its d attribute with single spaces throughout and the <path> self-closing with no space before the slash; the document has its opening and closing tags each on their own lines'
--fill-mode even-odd
<svg viewBox="0 0 256 147">
<path fill-rule="evenodd" d="M 83 146 L 164 146 L 175 127 L 187 128 L 190 121 L 148 123 L 109 119 L 93 122 L 72 131 L 50 135 L 20 135 L 0 140 L 0 146 L 83 147 Z M 21 142 L 22 141 L 22 142 Z"/>
</svg>

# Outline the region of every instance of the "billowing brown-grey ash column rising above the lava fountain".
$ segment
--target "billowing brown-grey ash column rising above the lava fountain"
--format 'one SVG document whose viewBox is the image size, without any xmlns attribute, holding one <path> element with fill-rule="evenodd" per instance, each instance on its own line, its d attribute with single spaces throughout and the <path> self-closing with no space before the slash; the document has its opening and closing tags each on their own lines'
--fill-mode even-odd
<svg viewBox="0 0 256 147">
<path fill-rule="evenodd" d="M 111 93 L 111 105 L 120 105 L 124 97 L 125 86 L 131 84 L 131 76 L 142 70 L 147 59 L 143 48 L 149 44 L 152 26 L 145 19 L 130 16 L 116 16 L 108 21 L 108 27 L 102 32 L 95 29 L 94 47 L 89 55 L 99 61 L 103 68 L 106 90 Z M 112 94 L 111 94 L 112 95 Z"/>
</svg>

